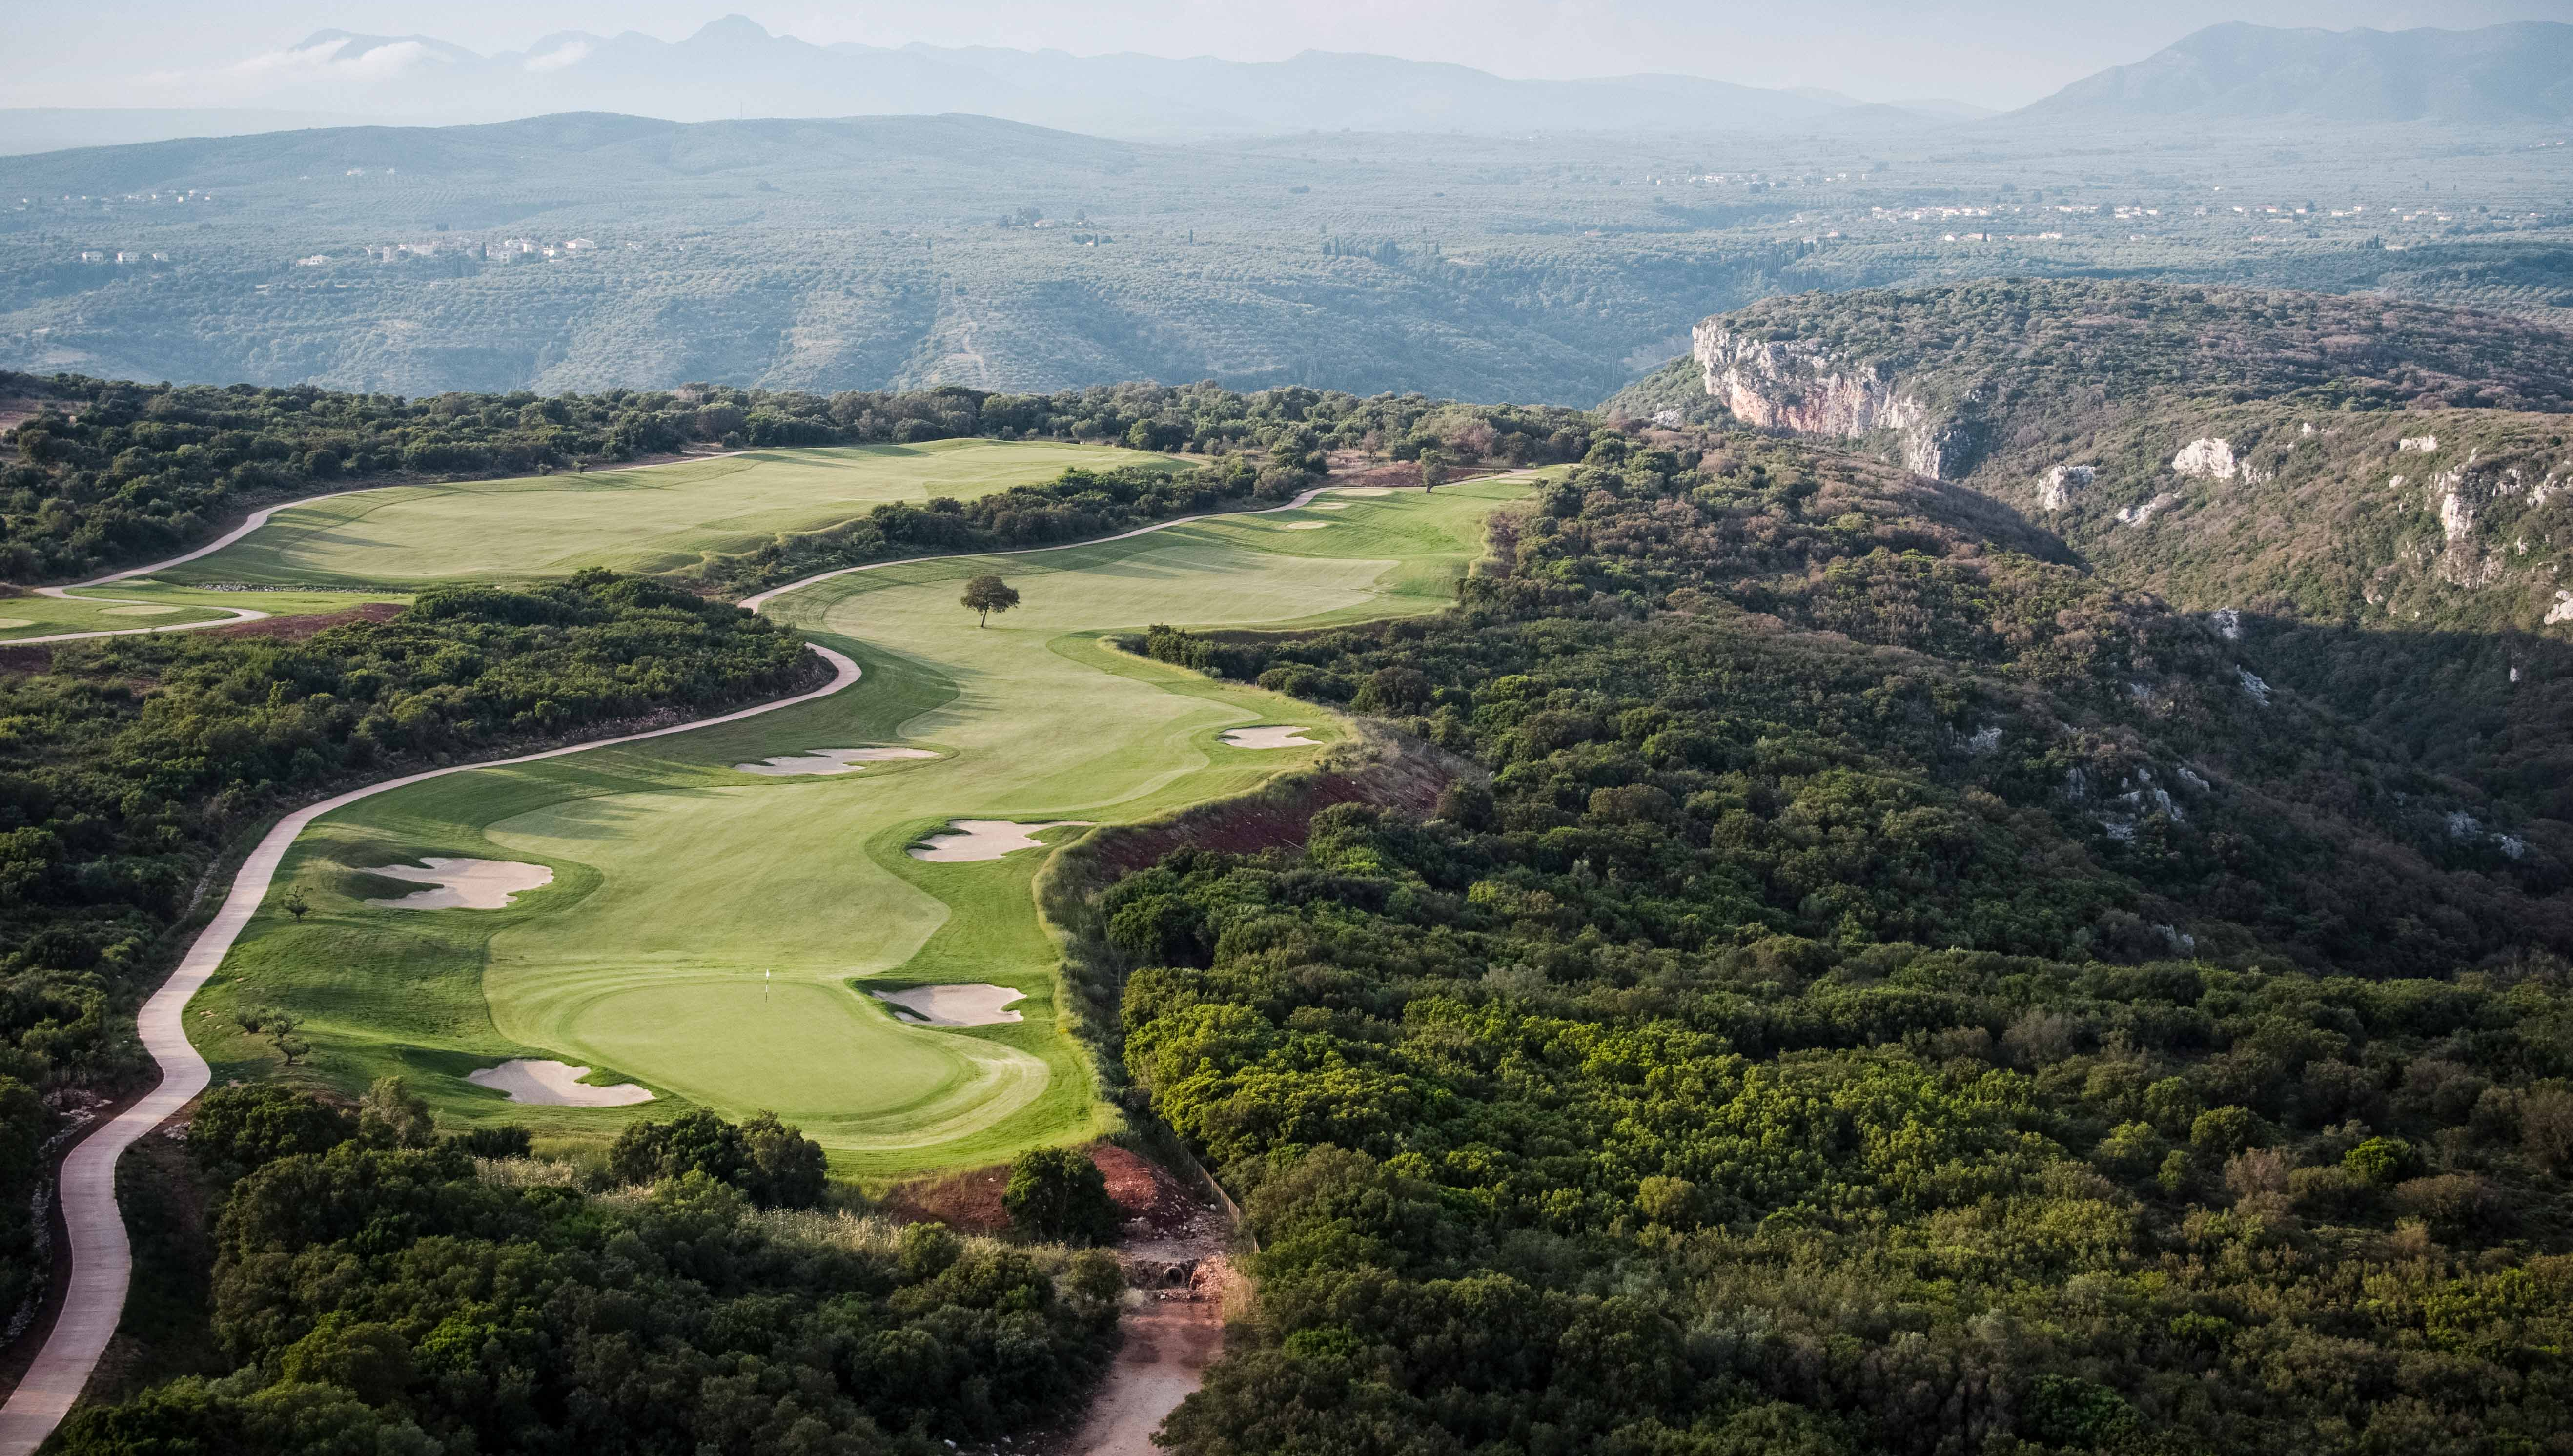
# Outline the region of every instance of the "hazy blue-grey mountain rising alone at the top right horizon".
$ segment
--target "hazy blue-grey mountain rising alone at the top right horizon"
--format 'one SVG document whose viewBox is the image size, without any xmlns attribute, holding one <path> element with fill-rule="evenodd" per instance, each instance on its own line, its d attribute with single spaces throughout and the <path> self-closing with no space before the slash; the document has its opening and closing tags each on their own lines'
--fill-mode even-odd
<svg viewBox="0 0 2573 1456">
<path fill-rule="evenodd" d="M 2573 118 L 2573 26 L 2277 31 L 2208 26 L 2130 67 L 2076 80 L 2022 121 L 2452 121 Z"/>
</svg>

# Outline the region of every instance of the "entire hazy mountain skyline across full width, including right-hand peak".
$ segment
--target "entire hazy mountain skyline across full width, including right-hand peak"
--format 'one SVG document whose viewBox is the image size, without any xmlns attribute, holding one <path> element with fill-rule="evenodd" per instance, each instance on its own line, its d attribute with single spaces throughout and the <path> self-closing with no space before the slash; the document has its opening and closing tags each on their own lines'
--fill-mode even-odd
<svg viewBox="0 0 2573 1456">
<path fill-rule="evenodd" d="M 347 123 L 473 123 L 569 111 L 664 121 L 973 113 L 1091 136 L 1297 131 L 1850 134 L 2030 126 L 2370 126 L 2573 118 L 2573 26 L 2282 31 L 2210 26 L 2015 113 L 1865 103 L 1690 75 L 1508 80 L 1459 64 L 1305 51 L 1284 62 L 859 46 L 726 15 L 684 41 L 561 31 L 476 54 L 435 36 L 319 31 L 221 72 L 242 108 L 0 111 L 0 154 Z M 255 111 L 252 111 L 255 108 Z"/>
</svg>

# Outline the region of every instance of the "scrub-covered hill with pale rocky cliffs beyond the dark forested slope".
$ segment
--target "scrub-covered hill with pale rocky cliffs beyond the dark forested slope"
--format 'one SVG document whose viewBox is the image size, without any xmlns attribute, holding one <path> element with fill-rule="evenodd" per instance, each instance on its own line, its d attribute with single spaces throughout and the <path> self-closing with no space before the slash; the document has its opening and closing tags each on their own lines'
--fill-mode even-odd
<svg viewBox="0 0 2573 1456">
<path fill-rule="evenodd" d="M 2573 334 L 2468 309 L 1997 280 L 1706 319 L 1732 419 L 1963 484 L 2416 761 L 2573 818 Z M 1611 414 L 1678 409 L 1665 370 Z"/>
</svg>

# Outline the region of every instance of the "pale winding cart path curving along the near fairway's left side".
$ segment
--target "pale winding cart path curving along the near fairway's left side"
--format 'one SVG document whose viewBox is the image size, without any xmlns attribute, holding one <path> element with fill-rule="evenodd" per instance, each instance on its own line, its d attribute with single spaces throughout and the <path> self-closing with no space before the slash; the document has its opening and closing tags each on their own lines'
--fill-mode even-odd
<svg viewBox="0 0 2573 1456">
<path fill-rule="evenodd" d="M 592 749 L 615 749 L 618 743 L 666 738 L 672 733 L 695 733 L 697 728 L 738 723 L 762 713 L 777 713 L 780 707 L 795 707 L 798 702 L 831 697 L 862 677 L 862 669 L 849 661 L 847 653 L 836 653 L 818 643 L 805 646 L 836 669 L 831 682 L 810 692 L 720 713 L 715 718 L 674 723 L 669 728 L 648 728 L 643 733 L 623 733 L 618 738 L 597 738 L 592 743 L 569 743 L 563 749 L 543 749 L 538 754 L 401 774 L 396 779 L 347 790 L 345 795 L 332 795 L 322 803 L 298 808 L 260 836 L 260 844 L 247 859 L 242 859 L 242 869 L 234 875 L 232 893 L 224 895 L 224 905 L 214 913 L 206 929 L 196 934 L 196 942 L 178 962 L 178 970 L 172 970 L 170 980 L 152 993 L 152 1001 L 144 1001 L 144 1008 L 136 1016 L 144 1050 L 152 1052 L 154 1062 L 160 1062 L 160 1086 L 75 1142 L 72 1152 L 62 1160 L 62 1222 L 69 1230 L 62 1255 L 72 1260 L 72 1284 L 62 1299 L 62 1312 L 54 1317 L 54 1330 L 46 1333 L 44 1348 L 36 1351 L 36 1363 L 28 1366 L 26 1379 L 18 1381 L 8 1405 L 0 1407 L 0 1456 L 28 1456 L 44 1443 L 46 1435 L 54 1433 L 57 1425 L 62 1425 L 72 1402 L 77 1402 L 80 1392 L 87 1389 L 90 1374 L 98 1369 L 98 1358 L 108 1351 L 108 1340 L 116 1335 L 116 1325 L 124 1320 L 126 1286 L 134 1279 L 134 1253 L 126 1245 L 124 1212 L 116 1206 L 116 1160 L 170 1114 L 188 1106 L 188 1101 L 193 1101 L 196 1093 L 206 1091 L 206 1083 L 214 1080 L 214 1068 L 208 1068 L 206 1057 L 196 1055 L 196 1047 L 188 1044 L 188 1029 L 180 1014 L 188 1008 L 188 1001 L 198 993 L 198 988 L 206 985 L 206 978 L 224 965 L 224 954 L 232 952 L 232 942 L 237 942 L 242 929 L 250 926 L 250 916 L 260 908 L 260 900 L 268 898 L 278 864 L 286 862 L 286 851 L 293 846 L 296 836 L 301 836 L 304 828 L 324 813 L 425 779 L 471 774 L 476 769 L 507 769 L 512 764 L 535 764 L 543 759 L 587 754 Z"/>
</svg>

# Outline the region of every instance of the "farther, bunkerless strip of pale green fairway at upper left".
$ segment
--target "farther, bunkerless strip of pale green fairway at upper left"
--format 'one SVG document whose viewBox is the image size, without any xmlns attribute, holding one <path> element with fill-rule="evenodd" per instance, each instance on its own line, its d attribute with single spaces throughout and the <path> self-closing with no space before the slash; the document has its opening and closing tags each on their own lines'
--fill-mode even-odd
<svg viewBox="0 0 2573 1456">
<path fill-rule="evenodd" d="M 934 440 L 754 450 L 587 476 L 391 486 L 278 512 L 239 543 L 172 569 L 172 581 L 533 581 L 584 566 L 674 571 L 831 527 L 885 502 L 973 499 L 1042 484 L 1068 466 L 1166 463 L 1104 445 Z"/>
</svg>

